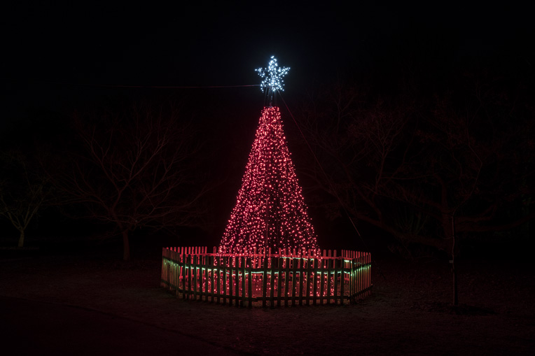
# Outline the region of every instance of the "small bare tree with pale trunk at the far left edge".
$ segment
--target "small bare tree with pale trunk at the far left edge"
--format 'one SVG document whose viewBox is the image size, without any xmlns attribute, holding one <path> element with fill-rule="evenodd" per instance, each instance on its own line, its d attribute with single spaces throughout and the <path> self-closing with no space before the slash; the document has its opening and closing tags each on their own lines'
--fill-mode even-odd
<svg viewBox="0 0 535 356">
<path fill-rule="evenodd" d="M 18 247 L 22 248 L 29 223 L 50 202 L 51 187 L 48 178 L 20 150 L 2 152 L 0 162 L 0 215 L 18 229 Z"/>
</svg>

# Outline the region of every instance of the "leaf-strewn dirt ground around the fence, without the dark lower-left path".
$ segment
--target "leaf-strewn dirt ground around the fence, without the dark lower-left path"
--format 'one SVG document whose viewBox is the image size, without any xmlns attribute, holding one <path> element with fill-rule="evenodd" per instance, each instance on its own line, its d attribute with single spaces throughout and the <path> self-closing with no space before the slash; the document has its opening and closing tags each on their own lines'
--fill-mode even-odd
<svg viewBox="0 0 535 356">
<path fill-rule="evenodd" d="M 373 295 L 356 305 L 248 310 L 176 299 L 159 287 L 160 263 L 125 264 L 94 256 L 4 260 L 0 295 L 81 306 L 130 320 L 139 334 L 149 329 L 147 342 L 155 349 L 158 338 L 176 338 L 178 344 L 200 342 L 255 355 L 535 354 L 530 266 L 459 264 L 459 298 L 467 306 L 454 313 L 448 307 L 450 276 L 443 264 L 380 261 L 387 279 L 375 268 Z M 39 330 L 27 334 L 39 335 Z M 183 336 L 193 341 L 181 341 Z"/>
</svg>

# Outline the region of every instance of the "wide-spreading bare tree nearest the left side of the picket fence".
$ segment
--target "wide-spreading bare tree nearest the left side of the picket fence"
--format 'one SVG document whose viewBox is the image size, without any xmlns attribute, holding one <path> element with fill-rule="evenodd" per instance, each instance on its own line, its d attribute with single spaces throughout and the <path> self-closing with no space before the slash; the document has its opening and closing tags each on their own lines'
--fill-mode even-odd
<svg viewBox="0 0 535 356">
<path fill-rule="evenodd" d="M 76 115 L 81 146 L 57 185 L 85 204 L 90 218 L 111 222 L 130 259 L 129 233 L 139 227 L 199 223 L 199 140 L 176 111 L 134 107 L 125 113 Z"/>
</svg>

